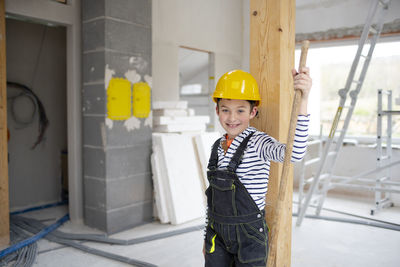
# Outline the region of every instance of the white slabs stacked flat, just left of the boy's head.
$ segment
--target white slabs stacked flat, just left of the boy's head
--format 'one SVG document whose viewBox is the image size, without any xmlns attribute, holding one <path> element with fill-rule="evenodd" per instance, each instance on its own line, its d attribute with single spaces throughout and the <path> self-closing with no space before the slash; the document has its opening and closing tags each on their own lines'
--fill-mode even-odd
<svg viewBox="0 0 400 267">
<path fill-rule="evenodd" d="M 153 103 L 153 131 L 162 133 L 204 132 L 209 116 L 195 116 L 187 101 Z"/>
</svg>

